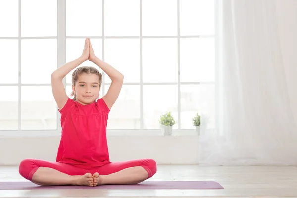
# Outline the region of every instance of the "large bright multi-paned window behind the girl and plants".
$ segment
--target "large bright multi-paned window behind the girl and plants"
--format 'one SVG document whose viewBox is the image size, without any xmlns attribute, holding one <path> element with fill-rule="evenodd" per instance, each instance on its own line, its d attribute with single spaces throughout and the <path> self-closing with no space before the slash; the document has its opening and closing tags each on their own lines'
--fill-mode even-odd
<svg viewBox="0 0 297 198">
<path fill-rule="evenodd" d="M 193 129 L 197 112 L 214 128 L 214 15 L 214 0 L 1 0 L 0 130 L 60 129 L 50 74 L 85 37 L 125 76 L 108 129 L 159 129 L 169 111 L 174 129 Z M 103 72 L 101 97 L 110 83 Z"/>
</svg>

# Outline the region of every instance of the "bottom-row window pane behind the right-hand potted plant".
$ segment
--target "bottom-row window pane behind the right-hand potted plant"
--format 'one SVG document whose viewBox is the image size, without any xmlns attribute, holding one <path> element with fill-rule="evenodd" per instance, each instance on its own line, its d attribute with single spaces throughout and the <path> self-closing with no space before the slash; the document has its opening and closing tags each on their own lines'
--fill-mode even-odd
<svg viewBox="0 0 297 198">
<path fill-rule="evenodd" d="M 207 128 L 215 128 L 215 85 L 181 85 L 181 128 L 194 129 L 192 118 L 199 115 Z M 205 117 L 208 120 L 205 120 Z"/>
</svg>

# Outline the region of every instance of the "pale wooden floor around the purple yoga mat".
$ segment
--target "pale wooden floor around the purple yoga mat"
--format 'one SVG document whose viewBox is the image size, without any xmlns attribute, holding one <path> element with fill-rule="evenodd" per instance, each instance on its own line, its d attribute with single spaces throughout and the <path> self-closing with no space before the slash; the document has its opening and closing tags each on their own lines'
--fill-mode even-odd
<svg viewBox="0 0 297 198">
<path fill-rule="evenodd" d="M 201 167 L 160 165 L 148 181 L 212 180 L 219 190 L 0 190 L 0 198 L 232 197 L 297 198 L 297 167 Z M 17 167 L 0 167 L 0 181 L 24 181 Z"/>
</svg>

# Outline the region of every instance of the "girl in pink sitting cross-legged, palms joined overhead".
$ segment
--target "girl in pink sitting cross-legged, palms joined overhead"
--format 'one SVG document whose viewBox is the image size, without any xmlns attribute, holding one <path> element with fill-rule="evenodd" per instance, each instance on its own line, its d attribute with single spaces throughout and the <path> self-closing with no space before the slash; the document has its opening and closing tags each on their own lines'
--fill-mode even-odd
<svg viewBox="0 0 297 198">
<path fill-rule="evenodd" d="M 94 67 L 79 67 L 72 74 L 74 99 L 70 99 L 62 79 L 86 60 L 94 62 L 110 77 L 110 88 L 98 99 L 102 75 Z M 156 162 L 152 159 L 109 161 L 108 113 L 119 96 L 123 79 L 120 72 L 95 56 L 90 39 L 86 38 L 82 55 L 51 74 L 62 126 L 56 162 L 24 159 L 19 173 L 41 186 L 137 184 L 152 177 L 156 173 Z"/>
</svg>

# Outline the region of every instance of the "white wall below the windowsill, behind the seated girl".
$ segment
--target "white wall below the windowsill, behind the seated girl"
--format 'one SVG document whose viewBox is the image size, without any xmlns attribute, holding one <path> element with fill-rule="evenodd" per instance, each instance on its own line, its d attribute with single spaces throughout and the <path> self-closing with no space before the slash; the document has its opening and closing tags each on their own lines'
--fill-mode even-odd
<svg viewBox="0 0 297 198">
<path fill-rule="evenodd" d="M 0 165 L 18 165 L 24 158 L 55 161 L 59 137 L 0 138 Z M 110 135 L 111 161 L 152 158 L 158 164 L 197 164 L 198 135 Z"/>
</svg>

